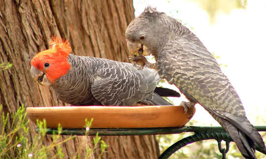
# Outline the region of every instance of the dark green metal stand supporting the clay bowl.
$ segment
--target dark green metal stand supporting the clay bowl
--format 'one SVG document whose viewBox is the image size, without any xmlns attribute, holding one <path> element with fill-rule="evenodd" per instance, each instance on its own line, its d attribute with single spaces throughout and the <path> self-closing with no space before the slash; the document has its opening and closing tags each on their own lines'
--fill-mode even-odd
<svg viewBox="0 0 266 159">
<path fill-rule="evenodd" d="M 258 131 L 266 131 L 266 126 L 255 126 Z M 39 132 L 39 129 L 36 129 Z M 159 134 L 179 134 L 181 132 L 194 132 L 194 135 L 183 138 L 169 148 L 159 157 L 168 159 L 173 153 L 182 147 L 202 140 L 215 139 L 218 142 L 219 151 L 226 159 L 229 151 L 229 144 L 232 140 L 230 135 L 221 126 L 183 126 L 183 127 L 159 127 L 159 128 L 91 128 L 86 135 L 94 136 L 97 133 L 101 136 L 121 136 L 121 135 L 159 135 Z M 85 135 L 85 128 L 63 129 L 61 135 Z M 57 129 L 47 129 L 46 134 L 58 134 Z M 221 147 L 221 141 L 226 142 L 226 148 Z M 256 150 L 266 155 L 266 149 L 261 149 L 256 145 Z"/>
</svg>

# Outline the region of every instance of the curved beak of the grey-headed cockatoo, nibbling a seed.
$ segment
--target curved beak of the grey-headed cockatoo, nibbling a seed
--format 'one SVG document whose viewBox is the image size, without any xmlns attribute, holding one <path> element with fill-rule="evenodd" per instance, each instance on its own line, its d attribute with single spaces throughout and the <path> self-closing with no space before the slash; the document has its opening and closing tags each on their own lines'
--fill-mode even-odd
<svg viewBox="0 0 266 159">
<path fill-rule="evenodd" d="M 135 55 L 135 56 L 140 56 L 140 55 L 147 56 L 147 55 L 151 54 L 148 47 L 146 47 L 142 43 L 133 43 L 130 40 L 127 40 L 127 45 L 128 45 L 128 49 L 129 49 L 130 53 Z"/>
</svg>

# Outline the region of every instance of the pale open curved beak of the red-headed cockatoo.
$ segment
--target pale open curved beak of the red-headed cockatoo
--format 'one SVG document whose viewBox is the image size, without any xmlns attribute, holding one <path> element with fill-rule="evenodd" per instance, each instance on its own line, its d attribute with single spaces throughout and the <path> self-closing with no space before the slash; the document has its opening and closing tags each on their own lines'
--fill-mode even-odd
<svg viewBox="0 0 266 159">
<path fill-rule="evenodd" d="M 51 85 L 51 82 L 47 79 L 47 76 L 44 72 L 36 69 L 34 66 L 31 67 L 31 73 L 33 79 L 43 86 Z"/>
</svg>

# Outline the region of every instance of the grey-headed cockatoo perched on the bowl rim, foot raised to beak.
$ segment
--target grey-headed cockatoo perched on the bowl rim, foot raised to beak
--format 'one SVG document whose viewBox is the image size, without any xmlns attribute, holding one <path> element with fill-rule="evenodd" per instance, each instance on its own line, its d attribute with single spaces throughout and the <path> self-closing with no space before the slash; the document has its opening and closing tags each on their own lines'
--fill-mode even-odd
<svg viewBox="0 0 266 159">
<path fill-rule="evenodd" d="M 242 155 L 255 159 L 254 142 L 265 143 L 246 118 L 242 103 L 213 55 L 198 37 L 176 19 L 146 7 L 126 30 L 130 51 L 141 56 L 153 54 L 153 65 L 161 78 L 175 84 L 192 103 L 199 103 L 216 119 L 236 143 Z"/>
</svg>

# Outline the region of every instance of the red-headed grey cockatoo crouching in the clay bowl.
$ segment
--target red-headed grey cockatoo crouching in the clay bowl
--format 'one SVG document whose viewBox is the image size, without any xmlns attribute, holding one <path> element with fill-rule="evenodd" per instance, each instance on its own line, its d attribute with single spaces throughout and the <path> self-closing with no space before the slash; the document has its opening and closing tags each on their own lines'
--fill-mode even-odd
<svg viewBox="0 0 266 159">
<path fill-rule="evenodd" d="M 171 105 L 154 93 L 161 80 L 157 71 L 137 70 L 130 63 L 70 54 L 67 41 L 54 38 L 49 49 L 39 52 L 31 61 L 35 80 L 51 86 L 57 97 L 72 105 L 131 106 Z M 159 93 L 180 96 L 169 89 Z"/>
</svg>

